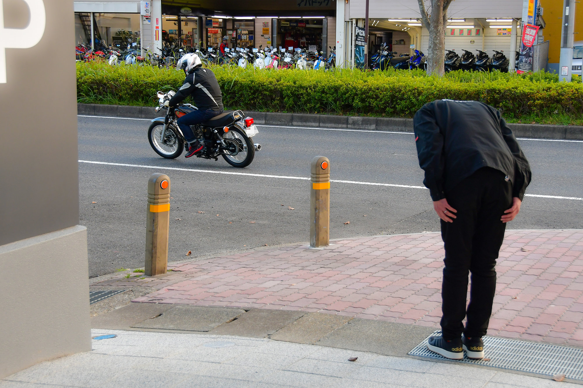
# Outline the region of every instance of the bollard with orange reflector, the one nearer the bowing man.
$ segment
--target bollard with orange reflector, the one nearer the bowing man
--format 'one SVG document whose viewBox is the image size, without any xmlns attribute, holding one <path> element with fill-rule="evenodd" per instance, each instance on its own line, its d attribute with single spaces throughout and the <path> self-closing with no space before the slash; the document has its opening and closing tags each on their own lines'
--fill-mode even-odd
<svg viewBox="0 0 583 388">
<path fill-rule="evenodd" d="M 310 246 L 330 245 L 330 161 L 312 159 L 310 193 Z"/>
</svg>

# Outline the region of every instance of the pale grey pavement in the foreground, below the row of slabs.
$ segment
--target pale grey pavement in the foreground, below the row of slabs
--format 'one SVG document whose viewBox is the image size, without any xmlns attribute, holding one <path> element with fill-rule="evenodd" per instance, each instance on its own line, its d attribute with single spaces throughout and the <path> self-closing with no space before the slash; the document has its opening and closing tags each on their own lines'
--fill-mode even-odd
<svg viewBox="0 0 583 388">
<path fill-rule="evenodd" d="M 93 330 L 93 350 L 0 380 L 13 387 L 579 387 L 473 365 L 266 338 Z M 215 344 L 222 344 L 216 347 Z M 226 346 L 224 346 L 226 345 Z M 354 362 L 349 357 L 357 357 Z"/>
</svg>

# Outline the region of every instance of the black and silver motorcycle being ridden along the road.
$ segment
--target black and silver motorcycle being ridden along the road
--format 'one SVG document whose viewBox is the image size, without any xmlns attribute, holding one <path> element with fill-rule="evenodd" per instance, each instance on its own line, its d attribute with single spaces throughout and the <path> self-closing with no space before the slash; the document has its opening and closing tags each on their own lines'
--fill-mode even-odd
<svg viewBox="0 0 583 388">
<path fill-rule="evenodd" d="M 164 101 L 174 96 L 174 91 L 157 93 L 160 107 L 165 109 L 164 117 L 152 120 L 147 136 L 150 146 L 163 158 L 174 159 L 182 154 L 187 141 L 178 127 L 177 119 L 195 111 L 191 104 L 178 104 L 177 107 L 164 107 Z M 242 111 L 227 111 L 199 125 L 192 125 L 196 138 L 203 139 L 204 147 L 196 157 L 219 160 L 222 156 L 233 167 L 247 167 L 261 150 L 261 144 L 253 143 L 252 137 L 259 131 L 253 118 L 245 117 Z"/>
</svg>

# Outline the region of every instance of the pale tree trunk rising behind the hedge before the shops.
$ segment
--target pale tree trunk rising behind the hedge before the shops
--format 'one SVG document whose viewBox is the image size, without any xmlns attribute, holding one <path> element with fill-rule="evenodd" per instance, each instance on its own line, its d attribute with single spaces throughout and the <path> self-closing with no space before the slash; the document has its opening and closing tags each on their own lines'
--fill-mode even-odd
<svg viewBox="0 0 583 388">
<path fill-rule="evenodd" d="M 425 9 L 426 0 L 417 0 L 423 24 L 429 30 L 429 50 L 427 51 L 427 75 L 442 77 L 445 73 L 445 23 L 447 8 L 452 0 L 430 0 L 431 17 Z"/>
</svg>

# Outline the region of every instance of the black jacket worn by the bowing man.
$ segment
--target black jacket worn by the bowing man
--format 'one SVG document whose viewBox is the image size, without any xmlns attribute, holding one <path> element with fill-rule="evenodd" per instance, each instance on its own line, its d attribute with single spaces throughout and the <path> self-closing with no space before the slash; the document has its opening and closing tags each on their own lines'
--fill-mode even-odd
<svg viewBox="0 0 583 388">
<path fill-rule="evenodd" d="M 425 170 L 423 184 L 434 201 L 482 167 L 504 172 L 512 182 L 512 196 L 524 197 L 531 168 L 493 107 L 477 101 L 433 101 L 417 111 L 413 128 L 419 166 Z"/>
</svg>

